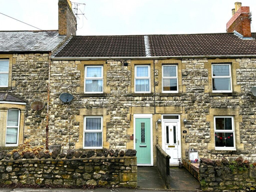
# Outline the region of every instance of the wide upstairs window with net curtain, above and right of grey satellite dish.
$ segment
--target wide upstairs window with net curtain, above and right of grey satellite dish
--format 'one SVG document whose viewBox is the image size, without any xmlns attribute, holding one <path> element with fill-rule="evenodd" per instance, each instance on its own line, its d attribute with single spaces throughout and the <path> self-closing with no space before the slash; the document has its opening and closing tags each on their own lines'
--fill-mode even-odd
<svg viewBox="0 0 256 192">
<path fill-rule="evenodd" d="M 103 66 L 85 66 L 85 93 L 103 93 Z"/>
</svg>

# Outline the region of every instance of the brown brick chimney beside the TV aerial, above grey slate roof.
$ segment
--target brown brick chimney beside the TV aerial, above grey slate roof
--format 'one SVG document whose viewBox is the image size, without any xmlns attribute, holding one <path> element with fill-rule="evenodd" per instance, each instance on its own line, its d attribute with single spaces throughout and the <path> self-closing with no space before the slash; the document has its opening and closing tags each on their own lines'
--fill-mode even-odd
<svg viewBox="0 0 256 192">
<path fill-rule="evenodd" d="M 76 18 L 70 0 L 59 0 L 59 35 L 76 35 Z"/>
</svg>

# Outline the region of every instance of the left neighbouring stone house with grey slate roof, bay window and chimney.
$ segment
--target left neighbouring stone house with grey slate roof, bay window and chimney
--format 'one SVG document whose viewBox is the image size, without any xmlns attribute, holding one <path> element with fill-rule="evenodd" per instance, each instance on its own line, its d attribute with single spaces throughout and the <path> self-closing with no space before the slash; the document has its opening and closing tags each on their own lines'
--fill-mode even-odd
<svg viewBox="0 0 256 192">
<path fill-rule="evenodd" d="M 45 142 L 46 107 L 37 112 L 29 105 L 47 105 L 51 55 L 76 34 L 70 2 L 58 4 L 58 30 L 0 31 L 0 149 L 17 147 L 30 136 L 35 144 Z"/>
</svg>

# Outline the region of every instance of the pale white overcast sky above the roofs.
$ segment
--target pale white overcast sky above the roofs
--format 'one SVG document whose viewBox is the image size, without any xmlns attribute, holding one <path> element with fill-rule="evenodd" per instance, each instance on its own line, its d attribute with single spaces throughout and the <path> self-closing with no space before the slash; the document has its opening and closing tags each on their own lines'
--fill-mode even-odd
<svg viewBox="0 0 256 192">
<path fill-rule="evenodd" d="M 77 35 L 226 32 L 235 0 L 73 0 L 79 9 Z M 256 29 L 256 1 L 250 6 Z M 58 0 L 0 0 L 0 13 L 42 30 L 58 29 Z M 79 11 L 79 13 L 81 13 Z M 0 30 L 37 30 L 0 14 Z"/>
</svg>

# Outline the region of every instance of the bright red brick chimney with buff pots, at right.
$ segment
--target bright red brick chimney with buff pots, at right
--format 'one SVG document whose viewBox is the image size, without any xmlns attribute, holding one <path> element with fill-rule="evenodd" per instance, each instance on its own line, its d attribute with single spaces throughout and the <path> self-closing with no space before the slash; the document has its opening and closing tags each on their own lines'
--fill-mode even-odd
<svg viewBox="0 0 256 192">
<path fill-rule="evenodd" d="M 227 33 L 236 30 L 244 37 L 252 37 L 250 7 L 241 5 L 242 3 L 236 2 L 235 10 L 232 9 L 232 17 L 227 23 Z"/>
</svg>

